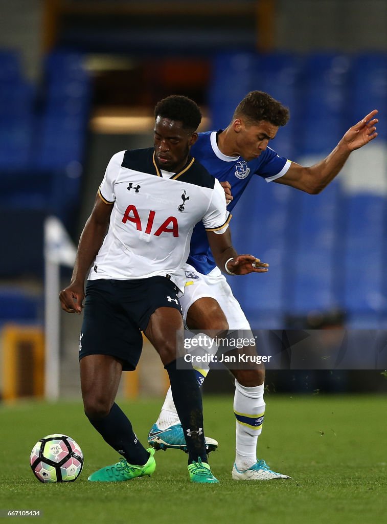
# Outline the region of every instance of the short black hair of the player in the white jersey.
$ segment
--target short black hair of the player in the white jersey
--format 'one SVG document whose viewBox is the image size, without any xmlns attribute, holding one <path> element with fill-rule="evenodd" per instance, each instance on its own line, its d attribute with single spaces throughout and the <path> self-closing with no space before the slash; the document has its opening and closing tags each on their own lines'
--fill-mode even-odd
<svg viewBox="0 0 387 524">
<path fill-rule="evenodd" d="M 169 118 L 183 124 L 184 129 L 194 132 L 202 121 L 200 107 L 187 96 L 170 95 L 154 107 L 154 118 Z"/>
</svg>

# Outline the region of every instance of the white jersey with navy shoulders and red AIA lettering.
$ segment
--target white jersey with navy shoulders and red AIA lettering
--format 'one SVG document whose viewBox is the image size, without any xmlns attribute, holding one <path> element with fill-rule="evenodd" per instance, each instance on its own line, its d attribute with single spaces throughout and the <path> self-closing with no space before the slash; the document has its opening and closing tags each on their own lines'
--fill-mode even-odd
<svg viewBox="0 0 387 524">
<path fill-rule="evenodd" d="M 98 193 L 113 210 L 89 280 L 170 275 L 183 289 L 194 225 L 203 221 L 206 231 L 218 231 L 231 218 L 222 186 L 199 162 L 190 157 L 182 171 L 163 178 L 153 148 L 116 153 Z"/>
</svg>

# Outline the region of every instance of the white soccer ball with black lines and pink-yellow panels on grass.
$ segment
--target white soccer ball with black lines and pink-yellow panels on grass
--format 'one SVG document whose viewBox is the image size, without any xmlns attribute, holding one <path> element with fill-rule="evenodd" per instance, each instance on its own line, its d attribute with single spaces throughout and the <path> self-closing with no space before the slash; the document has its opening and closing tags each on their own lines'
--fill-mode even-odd
<svg viewBox="0 0 387 524">
<path fill-rule="evenodd" d="M 30 464 L 40 482 L 74 482 L 82 471 L 83 453 L 75 440 L 56 433 L 35 444 Z"/>
</svg>

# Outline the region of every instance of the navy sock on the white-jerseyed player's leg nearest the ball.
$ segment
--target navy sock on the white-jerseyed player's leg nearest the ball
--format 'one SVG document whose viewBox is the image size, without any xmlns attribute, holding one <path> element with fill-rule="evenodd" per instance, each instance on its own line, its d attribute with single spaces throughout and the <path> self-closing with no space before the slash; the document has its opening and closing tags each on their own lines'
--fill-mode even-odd
<svg viewBox="0 0 387 524">
<path fill-rule="evenodd" d="M 87 417 L 87 413 L 86 413 Z M 130 464 L 142 466 L 149 459 L 149 453 L 138 440 L 126 414 L 113 404 L 109 414 L 102 419 L 87 417 L 105 442 L 113 447 Z"/>
</svg>

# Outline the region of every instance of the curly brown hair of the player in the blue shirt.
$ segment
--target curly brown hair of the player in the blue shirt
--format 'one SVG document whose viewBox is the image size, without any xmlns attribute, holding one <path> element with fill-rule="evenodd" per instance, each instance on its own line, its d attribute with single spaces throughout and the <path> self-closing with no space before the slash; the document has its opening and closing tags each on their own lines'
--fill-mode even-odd
<svg viewBox="0 0 387 524">
<path fill-rule="evenodd" d="M 239 117 L 244 118 L 250 125 L 264 120 L 280 127 L 288 123 L 290 112 L 288 107 L 283 106 L 268 93 L 250 91 L 234 111 L 233 120 Z"/>
</svg>

